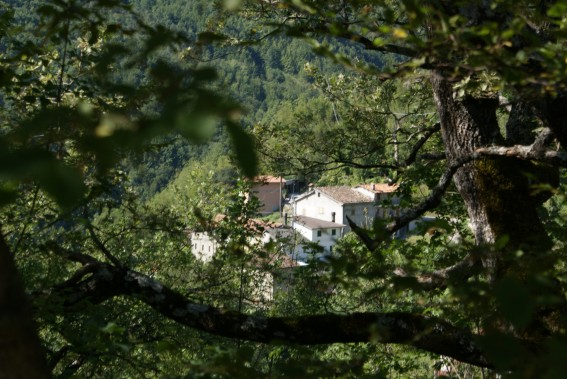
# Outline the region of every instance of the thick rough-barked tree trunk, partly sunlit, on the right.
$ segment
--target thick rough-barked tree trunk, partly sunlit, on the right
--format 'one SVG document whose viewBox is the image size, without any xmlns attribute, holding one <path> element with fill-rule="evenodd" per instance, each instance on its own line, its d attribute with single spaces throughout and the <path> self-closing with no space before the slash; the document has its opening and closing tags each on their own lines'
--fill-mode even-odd
<svg viewBox="0 0 567 379">
<path fill-rule="evenodd" d="M 433 73 L 431 83 L 449 163 L 470 156 L 480 147 L 504 143 L 496 117 L 497 98 L 457 98 L 451 81 L 441 72 Z M 534 169 L 530 162 L 499 157 L 475 160 L 456 172 L 454 182 L 465 202 L 477 244 L 494 243 L 507 236 L 510 250 L 550 246 L 537 213 L 539 201 L 530 193 L 527 173 Z"/>
</svg>

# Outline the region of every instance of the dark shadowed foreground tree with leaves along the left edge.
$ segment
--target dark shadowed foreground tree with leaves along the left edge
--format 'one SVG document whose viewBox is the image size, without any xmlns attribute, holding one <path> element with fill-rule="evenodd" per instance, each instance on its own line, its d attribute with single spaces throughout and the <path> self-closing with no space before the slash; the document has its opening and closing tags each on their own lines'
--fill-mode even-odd
<svg viewBox="0 0 567 379">
<path fill-rule="evenodd" d="M 47 3 L 38 12 L 39 24 L 21 25 L 36 33 L 22 35 L 11 8 L 3 4 L 1 13 L 0 367 L 2 377 L 14 378 L 49 377 L 48 363 L 60 359 L 59 352 L 52 362 L 43 359 L 14 261 L 29 274 L 31 262 L 22 258 L 37 253 L 43 237 L 63 248 L 56 250 L 62 254 L 65 246 L 80 245 L 81 237 L 62 241 L 48 235 L 62 225 L 73 235 L 77 230 L 70 225 L 82 214 L 89 228 L 75 236 L 88 232 L 99 251 L 121 266 L 106 249 L 107 239 L 97 237 L 92 226 L 97 211 L 90 207 L 97 201 L 124 203 L 131 196 L 117 185 L 123 180 L 117 165 L 126 150 L 151 148 L 156 136 L 171 132 L 202 141 L 226 118 L 226 130 L 236 133 L 229 131 L 230 138 L 248 141 L 239 145 L 244 150 L 237 159 L 249 160 L 242 166 L 248 175 L 255 171 L 250 139 L 229 120 L 238 106 L 205 88 L 214 73 L 194 62 L 183 64 L 179 55 L 171 59 L 172 51 L 189 43 L 185 35 L 150 26 L 129 6 L 113 1 Z M 144 71 L 144 80 L 132 79 Z"/>
</svg>

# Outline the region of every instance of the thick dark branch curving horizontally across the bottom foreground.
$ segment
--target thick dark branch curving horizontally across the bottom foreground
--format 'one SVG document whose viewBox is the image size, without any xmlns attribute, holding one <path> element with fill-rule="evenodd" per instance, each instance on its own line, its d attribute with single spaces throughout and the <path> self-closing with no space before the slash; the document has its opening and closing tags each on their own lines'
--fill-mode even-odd
<svg viewBox="0 0 567 379">
<path fill-rule="evenodd" d="M 413 346 L 477 366 L 492 366 L 469 330 L 435 317 L 406 312 L 247 315 L 195 303 L 133 270 L 124 271 L 102 262 L 92 267 L 91 275 L 82 281 L 53 289 L 52 301 L 62 303 L 69 311 L 85 301 L 99 304 L 116 296 L 132 296 L 182 325 L 228 338 L 299 345 L 378 341 Z"/>
</svg>

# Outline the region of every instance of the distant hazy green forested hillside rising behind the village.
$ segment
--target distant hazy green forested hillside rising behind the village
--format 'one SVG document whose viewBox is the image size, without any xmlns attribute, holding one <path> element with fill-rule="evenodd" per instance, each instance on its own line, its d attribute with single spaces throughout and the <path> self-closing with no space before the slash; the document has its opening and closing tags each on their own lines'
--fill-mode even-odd
<svg viewBox="0 0 567 379">
<path fill-rule="evenodd" d="M 321 75 L 338 75 L 346 71 L 341 65 L 316 54 L 305 41 L 285 34 L 266 38 L 274 27 L 259 25 L 254 17 L 243 18 L 222 12 L 208 1 L 133 1 L 132 5 L 150 23 L 187 33 L 192 39 L 205 32 L 227 36 L 227 40 L 215 45 L 182 53 L 184 59 L 192 61 L 192 64 L 214 67 L 219 76 L 215 84 L 217 88 L 228 91 L 243 105 L 241 123 L 245 128 L 281 122 L 301 111 L 321 112 L 322 106 L 324 112 L 331 112 L 330 103 L 322 105 L 317 100 L 322 98 L 322 93 L 313 86 L 314 78 L 306 73 L 305 65 L 317 67 Z M 382 66 L 383 59 L 392 62 L 390 57 L 384 58 L 347 41 L 333 44 L 338 54 L 350 58 L 370 61 L 377 66 Z M 217 141 L 225 144 L 226 151 L 222 131 L 215 135 Z M 178 148 L 160 150 L 159 154 L 149 154 L 144 164 L 133 169 L 134 183 L 145 198 L 163 189 L 185 162 L 201 159 L 200 152 L 204 151 L 176 146 Z M 273 168 L 266 167 L 265 170 L 271 173 L 269 171 Z M 301 174 L 293 169 L 286 170 L 286 173 L 291 176 Z M 318 177 L 312 176 L 311 179 Z"/>
</svg>

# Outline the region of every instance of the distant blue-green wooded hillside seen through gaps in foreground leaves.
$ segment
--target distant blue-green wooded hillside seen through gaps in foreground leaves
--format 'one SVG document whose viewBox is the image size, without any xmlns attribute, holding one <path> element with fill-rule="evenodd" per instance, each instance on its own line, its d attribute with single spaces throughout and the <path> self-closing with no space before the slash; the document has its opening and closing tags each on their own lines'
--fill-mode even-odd
<svg viewBox="0 0 567 379">
<path fill-rule="evenodd" d="M 40 20 L 39 1 L 13 2 L 15 17 L 27 26 L 36 25 Z M 321 94 L 312 85 L 313 78 L 306 75 L 305 64 L 313 64 L 323 74 L 344 72 L 340 65 L 315 54 L 309 44 L 285 35 L 265 38 L 269 27 L 262 28 L 252 19 L 237 17 L 223 12 L 209 1 L 132 1 L 132 9 L 150 25 L 163 25 L 180 32 L 187 38 L 183 51 L 167 51 L 161 54 L 168 59 L 182 60 L 190 66 L 212 67 L 218 75 L 214 86 L 227 91 L 236 102 L 243 106 L 241 124 L 252 128 L 258 123 L 271 123 L 278 114 L 287 117 L 294 114 L 298 105 L 305 108 L 310 101 Z M 112 14 L 111 22 L 120 22 Z M 201 33 L 224 33 L 231 40 L 216 45 L 195 47 Z M 371 59 L 381 64 L 379 54 L 371 54 L 347 43 L 337 44 L 337 51 L 361 59 Z M 140 85 L 144 82 L 152 62 L 145 62 L 135 68 L 122 67 L 113 71 L 118 80 Z M 146 109 L 152 112 L 151 107 Z M 211 132 L 210 136 L 228 148 L 222 130 Z M 203 141 L 203 143 L 208 143 Z M 157 194 L 175 177 L 190 160 L 200 159 L 208 150 L 206 146 L 189 146 L 182 139 L 171 136 L 156 140 L 158 148 L 143 157 L 126 162 L 134 186 L 145 199 Z M 162 147 L 162 145 L 168 145 Z M 235 178 L 232 178 L 235 179 Z"/>
</svg>

